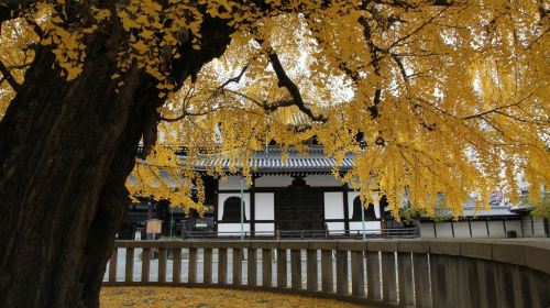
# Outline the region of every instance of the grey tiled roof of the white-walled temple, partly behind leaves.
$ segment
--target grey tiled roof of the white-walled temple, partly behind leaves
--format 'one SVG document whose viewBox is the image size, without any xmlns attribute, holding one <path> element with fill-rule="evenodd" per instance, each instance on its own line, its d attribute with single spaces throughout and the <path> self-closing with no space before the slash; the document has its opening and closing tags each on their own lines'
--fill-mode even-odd
<svg viewBox="0 0 550 308">
<path fill-rule="evenodd" d="M 353 156 L 346 155 L 338 164 L 333 157 L 326 157 L 321 146 L 311 146 L 306 154 L 296 150 L 288 150 L 287 160 L 283 160 L 283 151 L 277 146 L 268 146 L 265 151 L 258 151 L 249 160 L 249 166 L 254 173 L 331 173 L 333 167 L 344 172 L 353 167 Z M 182 157 L 185 161 L 185 157 Z M 221 166 L 229 169 L 234 164 L 222 155 L 204 155 L 196 169 L 213 168 Z M 239 168 L 239 167 L 238 167 Z"/>
</svg>

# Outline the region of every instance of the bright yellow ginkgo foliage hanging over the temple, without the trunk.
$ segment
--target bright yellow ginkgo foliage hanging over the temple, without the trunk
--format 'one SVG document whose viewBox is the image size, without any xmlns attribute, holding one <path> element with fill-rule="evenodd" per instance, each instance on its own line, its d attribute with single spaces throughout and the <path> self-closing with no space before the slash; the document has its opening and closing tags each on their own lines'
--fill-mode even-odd
<svg viewBox="0 0 550 308">
<path fill-rule="evenodd" d="M 519 174 L 537 200 L 549 183 L 544 1 L 86 3 L 80 28 L 64 28 L 59 10 L 40 1 L 3 23 L 0 61 L 24 65 L 32 61 L 25 46 L 53 44 L 70 80 L 81 70 L 86 35 L 120 22 L 128 44 L 112 78 L 138 63 L 166 97 L 155 154 L 138 162 L 130 180 L 135 194 L 200 209 L 204 193 L 193 196 L 202 187 L 193 168 L 200 155 L 229 157 L 231 172 L 250 179 L 245 162 L 266 142 L 304 148 L 312 136 L 337 160 L 353 153 L 355 166 L 334 175 L 365 201 L 386 195 L 395 215 L 405 198 L 430 212 L 443 194 L 457 215 L 472 191 L 479 205 L 499 189 L 514 199 Z M 200 50 L 201 24 L 212 18 L 235 29 L 231 45 L 196 78 L 170 80 L 166 57 L 179 57 L 183 42 Z M 13 91 L 0 87 L 1 114 Z M 174 154 L 180 145 L 185 164 Z M 208 173 L 224 176 L 221 167 Z"/>
</svg>

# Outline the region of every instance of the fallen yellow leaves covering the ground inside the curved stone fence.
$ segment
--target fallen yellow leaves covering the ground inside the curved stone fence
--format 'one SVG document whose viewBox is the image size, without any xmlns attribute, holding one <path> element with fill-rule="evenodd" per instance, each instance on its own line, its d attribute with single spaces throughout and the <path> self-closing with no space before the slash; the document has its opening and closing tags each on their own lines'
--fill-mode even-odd
<svg viewBox="0 0 550 308">
<path fill-rule="evenodd" d="M 101 308 L 118 307 L 363 307 L 332 299 L 257 290 L 188 287 L 103 287 Z"/>
</svg>

